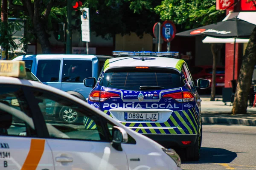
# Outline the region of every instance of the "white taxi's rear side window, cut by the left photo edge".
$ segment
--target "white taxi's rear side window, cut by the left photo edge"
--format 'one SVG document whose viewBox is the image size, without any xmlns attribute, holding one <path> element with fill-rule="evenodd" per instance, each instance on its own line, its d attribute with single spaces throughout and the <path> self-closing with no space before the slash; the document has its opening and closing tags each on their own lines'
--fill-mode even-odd
<svg viewBox="0 0 256 170">
<path fill-rule="evenodd" d="M 0 104 L 0 136 L 37 136 L 21 87 L 1 85 Z"/>
</svg>

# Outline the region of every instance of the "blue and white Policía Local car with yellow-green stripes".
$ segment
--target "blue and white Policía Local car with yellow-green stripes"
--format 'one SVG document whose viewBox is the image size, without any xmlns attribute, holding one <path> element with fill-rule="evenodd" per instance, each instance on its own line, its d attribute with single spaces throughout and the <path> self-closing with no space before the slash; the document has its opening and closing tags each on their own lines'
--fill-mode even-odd
<svg viewBox="0 0 256 170">
<path fill-rule="evenodd" d="M 209 81 L 198 79 L 195 86 L 186 62 L 175 58 L 178 52 L 113 55 L 117 57 L 106 60 L 97 82 L 84 80 L 94 87 L 88 103 L 166 148 L 186 147 L 186 159 L 198 160 L 202 126 L 196 89 L 208 88 Z"/>
</svg>

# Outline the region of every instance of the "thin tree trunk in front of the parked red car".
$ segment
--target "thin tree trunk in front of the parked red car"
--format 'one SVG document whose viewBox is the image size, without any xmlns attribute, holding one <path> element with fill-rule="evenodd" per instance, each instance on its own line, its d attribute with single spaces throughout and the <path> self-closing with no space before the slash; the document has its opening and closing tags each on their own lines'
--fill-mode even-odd
<svg viewBox="0 0 256 170">
<path fill-rule="evenodd" d="M 216 86 L 216 62 L 219 57 L 219 51 L 221 50 L 222 44 L 211 44 L 212 51 L 212 88 L 210 101 L 215 101 L 215 86 Z"/>
</svg>

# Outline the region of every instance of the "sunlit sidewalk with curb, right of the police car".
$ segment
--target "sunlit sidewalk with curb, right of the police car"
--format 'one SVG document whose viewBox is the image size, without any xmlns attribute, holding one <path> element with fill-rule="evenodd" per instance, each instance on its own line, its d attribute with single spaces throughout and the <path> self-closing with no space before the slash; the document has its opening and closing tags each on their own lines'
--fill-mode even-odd
<svg viewBox="0 0 256 170">
<path fill-rule="evenodd" d="M 210 98 L 201 97 L 201 116 L 203 124 L 226 124 L 226 125 L 250 125 L 256 126 L 256 107 L 248 107 L 247 114 L 232 115 L 230 102 L 224 105 L 221 96 L 217 96 L 215 101 Z"/>
</svg>

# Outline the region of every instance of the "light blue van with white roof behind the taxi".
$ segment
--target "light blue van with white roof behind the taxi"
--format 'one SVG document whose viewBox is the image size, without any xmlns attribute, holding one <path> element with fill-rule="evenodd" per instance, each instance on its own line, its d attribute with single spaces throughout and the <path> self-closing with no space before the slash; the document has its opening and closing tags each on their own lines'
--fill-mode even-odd
<svg viewBox="0 0 256 170">
<path fill-rule="evenodd" d="M 86 101 L 92 88 L 84 86 L 87 77 L 97 77 L 105 63 L 111 56 L 79 55 L 79 54 L 40 54 L 18 56 L 13 61 L 24 61 L 25 67 L 45 85 L 49 85 L 67 92 Z M 47 108 L 52 108 L 55 102 L 47 102 Z M 66 123 L 76 123 L 79 115 L 70 108 L 62 108 L 54 113 Z M 81 117 L 83 119 L 83 117 Z"/>
</svg>

